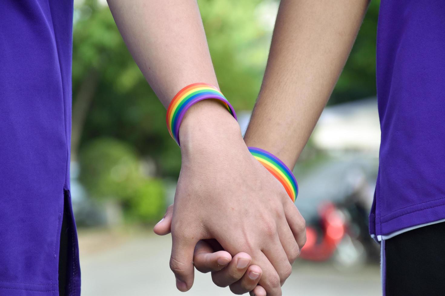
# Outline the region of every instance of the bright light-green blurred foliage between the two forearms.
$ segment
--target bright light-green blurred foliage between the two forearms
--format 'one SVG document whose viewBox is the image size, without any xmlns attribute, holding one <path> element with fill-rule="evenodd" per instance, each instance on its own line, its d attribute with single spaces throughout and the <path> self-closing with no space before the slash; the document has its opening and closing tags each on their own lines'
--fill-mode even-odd
<svg viewBox="0 0 445 296">
<path fill-rule="evenodd" d="M 259 25 L 260 0 L 200 0 L 218 83 L 237 110 L 251 110 L 259 92 L 271 32 Z"/>
</svg>

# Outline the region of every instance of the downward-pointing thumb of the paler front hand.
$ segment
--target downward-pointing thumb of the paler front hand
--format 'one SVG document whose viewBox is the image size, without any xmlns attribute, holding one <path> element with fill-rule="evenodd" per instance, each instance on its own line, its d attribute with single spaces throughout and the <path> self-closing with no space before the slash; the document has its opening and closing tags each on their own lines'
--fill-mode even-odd
<svg viewBox="0 0 445 296">
<path fill-rule="evenodd" d="M 172 231 L 170 269 L 176 277 L 176 287 L 186 292 L 193 285 L 193 251 L 199 237 L 185 231 Z"/>
</svg>

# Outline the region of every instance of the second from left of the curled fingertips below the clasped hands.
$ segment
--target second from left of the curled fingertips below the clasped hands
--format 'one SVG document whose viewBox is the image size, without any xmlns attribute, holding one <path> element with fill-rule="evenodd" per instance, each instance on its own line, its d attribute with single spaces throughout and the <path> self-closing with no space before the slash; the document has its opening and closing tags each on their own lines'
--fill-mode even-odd
<svg viewBox="0 0 445 296">
<path fill-rule="evenodd" d="M 231 262 L 220 271 L 212 272 L 212 280 L 218 287 L 227 287 L 241 279 L 246 272 L 252 258 L 241 252 L 236 254 Z"/>
</svg>

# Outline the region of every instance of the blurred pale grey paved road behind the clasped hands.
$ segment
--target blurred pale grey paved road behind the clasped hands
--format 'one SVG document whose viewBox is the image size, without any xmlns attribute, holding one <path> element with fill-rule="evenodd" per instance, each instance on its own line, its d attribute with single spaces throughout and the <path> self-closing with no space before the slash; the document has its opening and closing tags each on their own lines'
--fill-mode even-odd
<svg viewBox="0 0 445 296">
<path fill-rule="evenodd" d="M 168 267 L 170 236 L 152 233 L 122 235 L 110 232 L 81 232 L 83 296 L 224 296 L 228 288 L 214 286 L 210 274 L 195 273 L 193 288 L 178 292 Z M 283 286 L 289 296 L 380 295 L 378 266 L 340 272 L 331 264 L 299 261 Z"/>
</svg>

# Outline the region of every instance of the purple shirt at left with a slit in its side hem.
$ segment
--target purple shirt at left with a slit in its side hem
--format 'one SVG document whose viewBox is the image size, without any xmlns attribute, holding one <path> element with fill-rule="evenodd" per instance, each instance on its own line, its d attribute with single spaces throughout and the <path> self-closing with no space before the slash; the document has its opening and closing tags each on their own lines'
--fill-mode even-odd
<svg viewBox="0 0 445 296">
<path fill-rule="evenodd" d="M 0 295 L 58 295 L 73 0 L 1 0 L 0 15 Z M 67 291 L 80 295 L 71 217 Z"/>
</svg>

